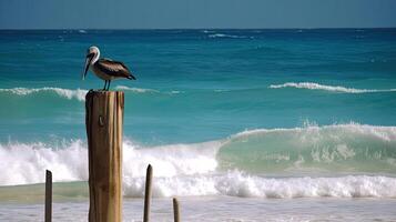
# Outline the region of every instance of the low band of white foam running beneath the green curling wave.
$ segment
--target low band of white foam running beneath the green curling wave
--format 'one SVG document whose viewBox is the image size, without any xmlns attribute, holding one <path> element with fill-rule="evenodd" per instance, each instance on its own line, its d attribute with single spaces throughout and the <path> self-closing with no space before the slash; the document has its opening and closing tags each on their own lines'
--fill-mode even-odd
<svg viewBox="0 0 396 222">
<path fill-rule="evenodd" d="M 124 195 L 142 198 L 144 178 L 124 180 Z M 155 178 L 154 196 L 231 195 L 241 198 L 396 198 L 396 179 L 347 175 L 339 178 L 263 178 L 238 171 L 222 174 Z"/>
</svg>

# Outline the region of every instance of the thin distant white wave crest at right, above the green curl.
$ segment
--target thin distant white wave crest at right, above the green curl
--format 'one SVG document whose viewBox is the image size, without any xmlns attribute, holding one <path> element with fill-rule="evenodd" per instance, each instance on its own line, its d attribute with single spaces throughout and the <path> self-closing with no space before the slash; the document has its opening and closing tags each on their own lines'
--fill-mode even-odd
<svg viewBox="0 0 396 222">
<path fill-rule="evenodd" d="M 385 89 L 385 90 L 376 90 L 376 89 L 355 89 L 355 88 L 345 88 L 345 87 L 334 87 L 319 84 L 315 82 L 286 82 L 283 84 L 271 84 L 271 89 L 280 89 L 280 88 L 297 88 L 297 89 L 308 89 L 308 90 L 325 90 L 332 92 L 343 92 L 343 93 L 369 93 L 369 92 L 396 92 L 396 89 Z"/>
</svg>

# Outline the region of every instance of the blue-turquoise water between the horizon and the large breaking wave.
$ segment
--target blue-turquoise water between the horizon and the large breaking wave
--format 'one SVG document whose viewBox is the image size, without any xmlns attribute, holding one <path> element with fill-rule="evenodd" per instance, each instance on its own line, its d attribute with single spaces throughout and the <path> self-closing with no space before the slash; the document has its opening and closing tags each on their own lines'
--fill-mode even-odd
<svg viewBox="0 0 396 222">
<path fill-rule="evenodd" d="M 270 88 L 396 89 L 395 29 L 2 31 L 0 88 L 100 89 L 93 74 L 80 78 L 91 44 L 138 77 L 112 89 L 146 89 L 125 90 L 125 137 L 144 144 L 203 142 L 306 121 L 396 125 L 395 92 Z M 75 98 L 1 91 L 0 100 L 7 104 L 0 109 L 3 142 L 84 138 L 83 103 Z"/>
</svg>

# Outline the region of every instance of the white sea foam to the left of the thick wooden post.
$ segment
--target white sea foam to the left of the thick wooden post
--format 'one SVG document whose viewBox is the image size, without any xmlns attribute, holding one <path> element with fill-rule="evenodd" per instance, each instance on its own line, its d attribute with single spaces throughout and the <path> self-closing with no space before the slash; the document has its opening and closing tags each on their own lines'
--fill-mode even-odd
<svg viewBox="0 0 396 222">
<path fill-rule="evenodd" d="M 54 181 L 87 180 L 87 149 L 81 141 L 60 147 L 44 143 L 0 144 L 0 167 L 7 169 L 0 175 L 0 185 L 43 182 L 45 169 L 52 170 Z"/>
</svg>

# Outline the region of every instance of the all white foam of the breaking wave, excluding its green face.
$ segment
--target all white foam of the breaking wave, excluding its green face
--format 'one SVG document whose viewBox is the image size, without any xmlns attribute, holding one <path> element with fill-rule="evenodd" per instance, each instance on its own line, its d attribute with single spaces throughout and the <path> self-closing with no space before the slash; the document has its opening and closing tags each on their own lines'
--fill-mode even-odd
<svg viewBox="0 0 396 222">
<path fill-rule="evenodd" d="M 396 198 L 396 179 L 377 175 L 267 178 L 241 170 L 223 171 L 219 151 L 235 139 L 267 133 L 293 133 L 302 143 L 305 140 L 324 140 L 339 134 L 363 134 L 376 141 L 396 141 L 395 127 L 373 127 L 357 123 L 294 129 L 262 129 L 237 133 L 227 139 L 192 144 L 170 144 L 142 148 L 131 141 L 123 143 L 123 193 L 143 196 L 145 168 L 154 168 L 154 196 L 173 195 L 232 195 L 257 198 Z M 283 134 L 282 134 L 283 135 Z M 312 135 L 312 137 L 309 137 Z M 342 138 L 335 138 L 342 140 Z M 326 141 L 326 140 L 325 140 Z M 305 141 L 306 142 L 306 141 Z M 354 157 L 354 150 L 341 141 L 336 150 L 343 159 Z M 327 144 L 327 143 L 326 143 Z M 248 152 L 248 150 L 246 150 Z M 323 153 L 322 153 L 323 155 Z M 82 140 L 45 143 L 0 144 L 0 185 L 30 184 L 44 181 L 44 170 L 53 172 L 53 180 L 87 181 L 88 150 Z M 331 155 L 328 155 L 331 158 Z M 274 157 L 288 161 L 286 155 Z M 323 157 L 319 157 L 323 159 Z M 263 160 L 266 161 L 266 160 Z M 271 160 L 268 160 L 271 161 Z M 389 160 L 392 161 L 392 160 Z M 301 160 L 304 164 L 304 160 Z M 354 161 L 353 161 L 354 162 Z M 298 163 L 296 163 L 296 168 Z M 263 172 L 265 173 L 265 172 Z"/>
</svg>

